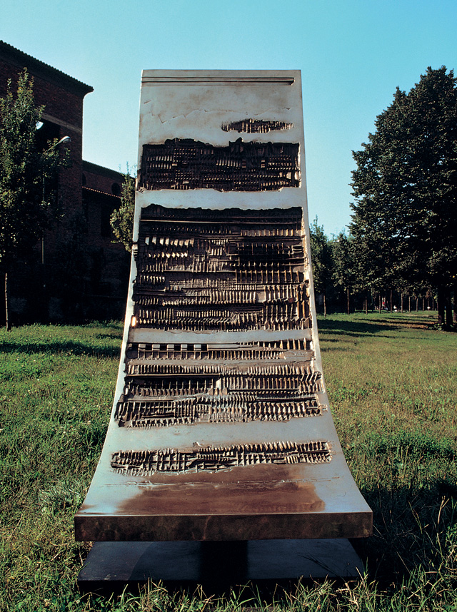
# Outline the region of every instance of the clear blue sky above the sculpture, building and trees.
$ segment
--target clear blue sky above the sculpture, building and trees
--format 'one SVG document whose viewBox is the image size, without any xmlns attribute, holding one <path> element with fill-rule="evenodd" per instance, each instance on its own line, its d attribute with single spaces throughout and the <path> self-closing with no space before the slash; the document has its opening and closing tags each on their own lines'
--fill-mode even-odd
<svg viewBox="0 0 457 612">
<path fill-rule="evenodd" d="M 396 86 L 457 71 L 457 1 L 2 0 L 0 39 L 94 87 L 83 155 L 114 170 L 136 163 L 142 69 L 301 69 L 309 217 L 331 235 Z"/>
</svg>

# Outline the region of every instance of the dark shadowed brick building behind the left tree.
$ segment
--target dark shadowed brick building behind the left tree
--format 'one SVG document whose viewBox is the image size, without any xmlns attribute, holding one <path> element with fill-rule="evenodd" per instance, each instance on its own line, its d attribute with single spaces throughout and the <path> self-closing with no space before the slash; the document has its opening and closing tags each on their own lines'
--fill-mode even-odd
<svg viewBox="0 0 457 612">
<path fill-rule="evenodd" d="M 20 322 L 121 317 L 129 257 L 111 242 L 109 215 L 120 203 L 122 175 L 82 159 L 83 102 L 94 90 L 0 41 L 0 97 L 9 79 L 15 89 L 24 68 L 34 78 L 36 105 L 45 107 L 37 140 L 46 146 L 69 136 L 71 167 L 59 173 L 61 215 L 53 230 L 34 260 L 16 266 L 11 314 Z"/>
</svg>

